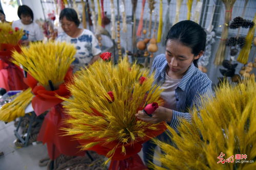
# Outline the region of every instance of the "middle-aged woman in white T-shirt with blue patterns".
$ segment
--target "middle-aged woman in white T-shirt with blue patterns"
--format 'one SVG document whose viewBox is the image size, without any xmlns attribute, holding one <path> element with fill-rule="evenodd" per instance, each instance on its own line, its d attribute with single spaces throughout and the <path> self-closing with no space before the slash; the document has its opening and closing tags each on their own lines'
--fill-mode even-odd
<svg viewBox="0 0 256 170">
<path fill-rule="evenodd" d="M 78 28 L 80 21 L 74 9 L 63 9 L 60 22 L 64 32 L 58 35 L 57 41 L 66 41 L 75 45 L 76 54 L 73 62 L 75 69 L 88 66 L 100 58 L 101 50 L 96 37 L 91 31 Z"/>
</svg>

